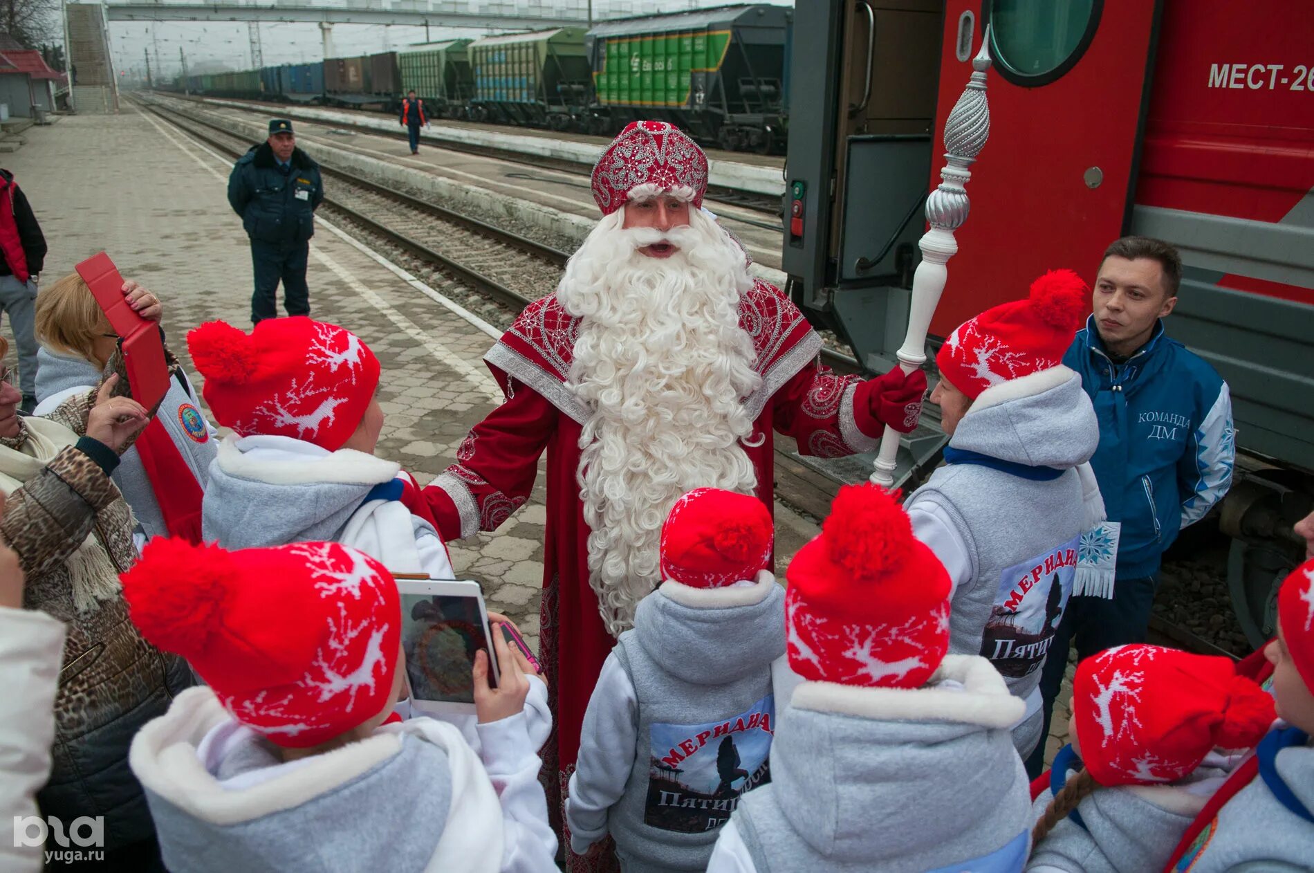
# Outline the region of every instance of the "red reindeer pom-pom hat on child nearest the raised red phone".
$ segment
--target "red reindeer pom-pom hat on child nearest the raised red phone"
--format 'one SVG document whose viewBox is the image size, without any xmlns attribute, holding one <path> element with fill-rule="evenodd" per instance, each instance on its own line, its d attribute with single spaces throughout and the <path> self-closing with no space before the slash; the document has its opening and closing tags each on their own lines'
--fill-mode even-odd
<svg viewBox="0 0 1314 873">
<path fill-rule="evenodd" d="M 250 335 L 212 321 L 187 335 L 205 402 L 240 436 L 292 436 L 338 451 L 378 387 L 378 359 L 356 334 L 304 316 Z"/>
</svg>

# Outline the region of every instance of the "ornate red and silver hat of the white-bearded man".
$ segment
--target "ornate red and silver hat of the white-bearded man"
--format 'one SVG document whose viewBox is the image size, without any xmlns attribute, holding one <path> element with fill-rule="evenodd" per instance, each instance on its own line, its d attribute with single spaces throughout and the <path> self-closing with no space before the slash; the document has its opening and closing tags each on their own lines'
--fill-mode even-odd
<svg viewBox="0 0 1314 873">
<path fill-rule="evenodd" d="M 675 125 L 631 121 L 593 167 L 593 199 L 610 216 L 632 195 L 664 191 L 682 195 L 695 209 L 702 206 L 707 155 Z"/>
</svg>

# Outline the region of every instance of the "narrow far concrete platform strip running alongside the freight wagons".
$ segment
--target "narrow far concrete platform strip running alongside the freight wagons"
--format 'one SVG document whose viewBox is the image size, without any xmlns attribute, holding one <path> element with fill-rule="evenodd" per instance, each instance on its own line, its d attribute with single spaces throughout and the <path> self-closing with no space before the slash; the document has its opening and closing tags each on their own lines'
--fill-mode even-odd
<svg viewBox="0 0 1314 873">
<path fill-rule="evenodd" d="M 363 125 L 389 134 L 397 133 L 398 129 L 396 118 L 378 112 L 269 104 L 254 100 L 225 100 L 221 97 L 193 99 L 215 106 L 255 109 L 267 116 L 285 116 L 294 120 L 322 121 L 327 124 Z M 497 125 L 472 125 L 445 118 L 439 118 L 426 128 L 420 134 L 420 139 L 435 145 L 452 142 L 466 146 L 503 149 L 519 151 L 526 155 L 570 160 L 587 167 L 591 167 L 598 160 L 598 154 L 607 142 L 604 138 L 582 134 L 522 130 L 518 128 L 499 128 Z M 781 158 L 710 151 L 707 175 L 708 181 L 714 185 L 779 197 L 784 195 L 782 167 L 783 159 Z"/>
</svg>

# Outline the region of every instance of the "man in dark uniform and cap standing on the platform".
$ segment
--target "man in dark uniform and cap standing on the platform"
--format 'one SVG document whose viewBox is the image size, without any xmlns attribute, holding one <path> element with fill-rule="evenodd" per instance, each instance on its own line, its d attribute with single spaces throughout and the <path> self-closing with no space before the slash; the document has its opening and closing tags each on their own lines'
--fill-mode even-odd
<svg viewBox="0 0 1314 873">
<path fill-rule="evenodd" d="M 286 118 L 272 120 L 269 138 L 251 146 L 233 166 L 229 202 L 251 238 L 255 268 L 252 323 L 279 314 L 275 292 L 280 279 L 288 314 L 310 314 L 306 262 L 315 233 L 315 208 L 323 199 L 319 164 L 297 149 Z"/>
</svg>

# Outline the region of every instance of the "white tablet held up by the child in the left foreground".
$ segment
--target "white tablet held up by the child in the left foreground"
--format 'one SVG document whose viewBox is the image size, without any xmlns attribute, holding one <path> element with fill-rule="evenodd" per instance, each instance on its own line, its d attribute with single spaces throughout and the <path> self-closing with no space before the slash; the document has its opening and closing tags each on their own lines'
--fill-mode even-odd
<svg viewBox="0 0 1314 873">
<path fill-rule="evenodd" d="M 489 653 L 491 685 L 498 669 L 484 592 L 473 581 L 398 578 L 402 651 L 411 707 L 430 715 L 474 713 L 474 653 Z"/>
</svg>

